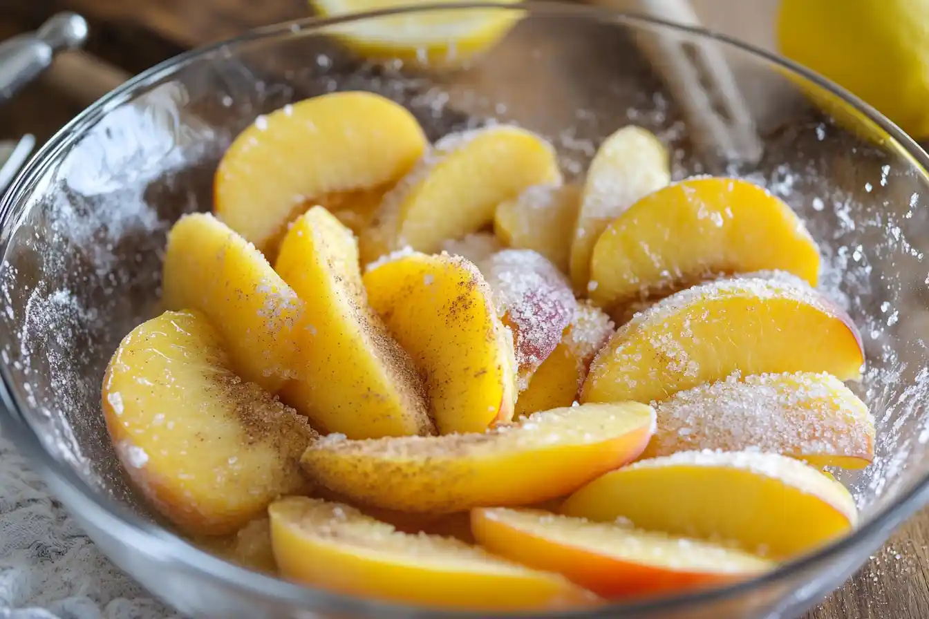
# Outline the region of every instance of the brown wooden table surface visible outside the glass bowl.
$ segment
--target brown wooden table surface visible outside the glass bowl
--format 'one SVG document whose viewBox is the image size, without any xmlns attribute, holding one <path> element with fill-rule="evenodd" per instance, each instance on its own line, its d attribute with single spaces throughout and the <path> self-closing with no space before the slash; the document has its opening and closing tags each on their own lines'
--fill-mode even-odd
<svg viewBox="0 0 929 619">
<path fill-rule="evenodd" d="M 308 15 L 305 0 L 4 0 L 0 39 L 33 30 L 65 9 L 83 14 L 90 22 L 90 53 L 133 73 L 192 46 Z M 4 109 L 0 137 L 31 131 L 43 139 L 84 107 L 83 102 L 49 97 L 49 87 L 34 84 Z M 925 617 L 929 617 L 929 509 L 901 527 L 858 574 L 805 619 Z"/>
</svg>

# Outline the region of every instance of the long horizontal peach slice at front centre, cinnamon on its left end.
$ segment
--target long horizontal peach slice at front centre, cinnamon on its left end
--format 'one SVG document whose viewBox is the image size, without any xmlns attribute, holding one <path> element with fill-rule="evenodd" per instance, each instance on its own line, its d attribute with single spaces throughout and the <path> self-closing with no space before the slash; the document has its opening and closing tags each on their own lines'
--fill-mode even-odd
<svg viewBox="0 0 929 619">
<path fill-rule="evenodd" d="M 303 456 L 322 486 L 361 505 L 451 513 L 565 496 L 635 459 L 654 411 L 633 402 L 536 413 L 481 434 L 325 438 Z"/>
</svg>

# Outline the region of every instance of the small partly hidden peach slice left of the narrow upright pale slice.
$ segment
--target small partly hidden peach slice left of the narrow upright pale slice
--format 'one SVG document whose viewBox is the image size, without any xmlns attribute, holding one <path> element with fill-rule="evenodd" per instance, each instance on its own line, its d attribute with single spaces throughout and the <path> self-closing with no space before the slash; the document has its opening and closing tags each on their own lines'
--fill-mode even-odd
<svg viewBox="0 0 929 619">
<path fill-rule="evenodd" d="M 493 230 L 505 245 L 534 250 L 569 273 L 571 230 L 581 208 L 578 185 L 535 185 L 497 205 Z"/>
</svg>

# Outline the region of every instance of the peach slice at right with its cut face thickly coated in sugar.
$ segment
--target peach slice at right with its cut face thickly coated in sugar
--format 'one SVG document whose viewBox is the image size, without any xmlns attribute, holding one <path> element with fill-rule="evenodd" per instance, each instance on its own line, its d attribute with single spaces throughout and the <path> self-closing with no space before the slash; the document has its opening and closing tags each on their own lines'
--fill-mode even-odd
<svg viewBox="0 0 929 619">
<path fill-rule="evenodd" d="M 816 467 L 862 469 L 874 458 L 868 406 L 829 374 L 729 377 L 674 393 L 655 411 L 658 430 L 643 458 L 751 447 Z"/>
</svg>

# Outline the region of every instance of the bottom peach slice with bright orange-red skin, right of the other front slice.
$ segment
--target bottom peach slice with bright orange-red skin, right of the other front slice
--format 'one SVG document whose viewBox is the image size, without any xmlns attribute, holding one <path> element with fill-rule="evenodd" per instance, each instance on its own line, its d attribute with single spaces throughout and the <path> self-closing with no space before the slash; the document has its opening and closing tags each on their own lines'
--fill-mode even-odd
<svg viewBox="0 0 929 619">
<path fill-rule="evenodd" d="M 720 587 L 775 567 L 709 542 L 538 509 L 473 509 L 471 527 L 492 553 L 564 574 L 608 600 Z"/>
</svg>

